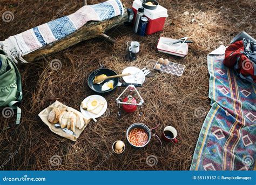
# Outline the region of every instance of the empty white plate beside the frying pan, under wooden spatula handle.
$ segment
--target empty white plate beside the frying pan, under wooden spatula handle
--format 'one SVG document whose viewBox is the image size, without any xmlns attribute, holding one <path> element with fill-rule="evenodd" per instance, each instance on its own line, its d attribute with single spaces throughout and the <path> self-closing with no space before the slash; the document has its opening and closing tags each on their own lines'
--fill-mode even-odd
<svg viewBox="0 0 256 185">
<path fill-rule="evenodd" d="M 138 67 L 126 67 L 122 74 L 124 73 L 131 73 L 130 76 L 123 77 L 126 83 L 143 84 L 145 81 L 145 74 Z"/>
</svg>

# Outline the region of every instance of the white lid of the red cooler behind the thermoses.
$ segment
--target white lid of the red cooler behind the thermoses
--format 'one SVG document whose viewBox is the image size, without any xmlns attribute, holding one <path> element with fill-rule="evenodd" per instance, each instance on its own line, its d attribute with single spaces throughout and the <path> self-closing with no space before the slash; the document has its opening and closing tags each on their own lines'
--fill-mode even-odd
<svg viewBox="0 0 256 185">
<path fill-rule="evenodd" d="M 142 2 L 140 0 L 134 0 L 132 8 L 138 10 L 140 7 L 142 7 Z M 144 15 L 150 18 L 151 20 L 160 17 L 168 17 L 167 9 L 160 5 L 158 5 L 157 9 L 155 10 L 149 10 L 144 8 Z"/>
</svg>

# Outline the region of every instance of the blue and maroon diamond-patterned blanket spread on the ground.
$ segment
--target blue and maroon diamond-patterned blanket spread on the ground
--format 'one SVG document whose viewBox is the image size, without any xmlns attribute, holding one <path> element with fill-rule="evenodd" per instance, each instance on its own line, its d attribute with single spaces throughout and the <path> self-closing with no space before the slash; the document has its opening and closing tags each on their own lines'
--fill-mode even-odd
<svg viewBox="0 0 256 185">
<path fill-rule="evenodd" d="M 191 170 L 252 170 L 256 157 L 256 87 L 223 65 L 225 47 L 208 55 L 211 98 Z M 223 51 L 221 51 L 223 50 Z"/>
</svg>

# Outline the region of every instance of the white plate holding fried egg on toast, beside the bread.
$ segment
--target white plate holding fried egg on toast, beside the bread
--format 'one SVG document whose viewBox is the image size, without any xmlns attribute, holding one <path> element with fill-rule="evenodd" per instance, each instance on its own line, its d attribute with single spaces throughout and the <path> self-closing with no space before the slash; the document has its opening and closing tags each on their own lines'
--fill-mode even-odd
<svg viewBox="0 0 256 185">
<path fill-rule="evenodd" d="M 82 102 L 84 104 L 87 104 L 87 101 L 89 101 L 89 99 L 91 98 L 95 98 L 98 100 L 101 100 L 103 102 L 105 102 L 104 107 L 102 108 L 102 111 L 99 112 L 99 114 L 93 114 L 91 112 L 85 111 L 82 106 L 80 105 L 80 112 L 86 117 L 86 118 L 99 118 L 100 116 L 102 116 L 107 109 L 107 101 L 105 98 L 103 98 L 101 95 L 90 95 L 89 97 L 85 98 Z"/>
</svg>

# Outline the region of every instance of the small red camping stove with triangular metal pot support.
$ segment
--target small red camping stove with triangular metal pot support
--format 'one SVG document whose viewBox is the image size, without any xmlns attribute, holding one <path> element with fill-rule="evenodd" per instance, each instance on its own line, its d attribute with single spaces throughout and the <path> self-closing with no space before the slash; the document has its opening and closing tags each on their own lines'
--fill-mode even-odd
<svg viewBox="0 0 256 185">
<path fill-rule="evenodd" d="M 136 98 L 138 97 L 138 98 Z M 140 96 L 137 88 L 134 85 L 129 85 L 116 99 L 117 106 L 119 108 L 118 117 L 121 116 L 122 110 L 126 113 L 132 113 L 139 109 L 139 116 L 142 115 L 142 105 L 144 100 Z"/>
</svg>

